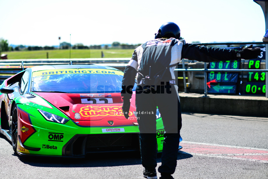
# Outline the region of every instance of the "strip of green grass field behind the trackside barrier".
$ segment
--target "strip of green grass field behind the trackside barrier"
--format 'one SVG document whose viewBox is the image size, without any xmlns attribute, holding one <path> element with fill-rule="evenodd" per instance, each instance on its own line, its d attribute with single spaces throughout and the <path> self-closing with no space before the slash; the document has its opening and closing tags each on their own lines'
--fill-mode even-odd
<svg viewBox="0 0 268 179">
<path fill-rule="evenodd" d="M 31 50 L 2 52 L 8 54 L 8 59 L 45 59 L 47 58 L 131 58 L 134 49 L 70 49 L 66 50 Z"/>
</svg>

